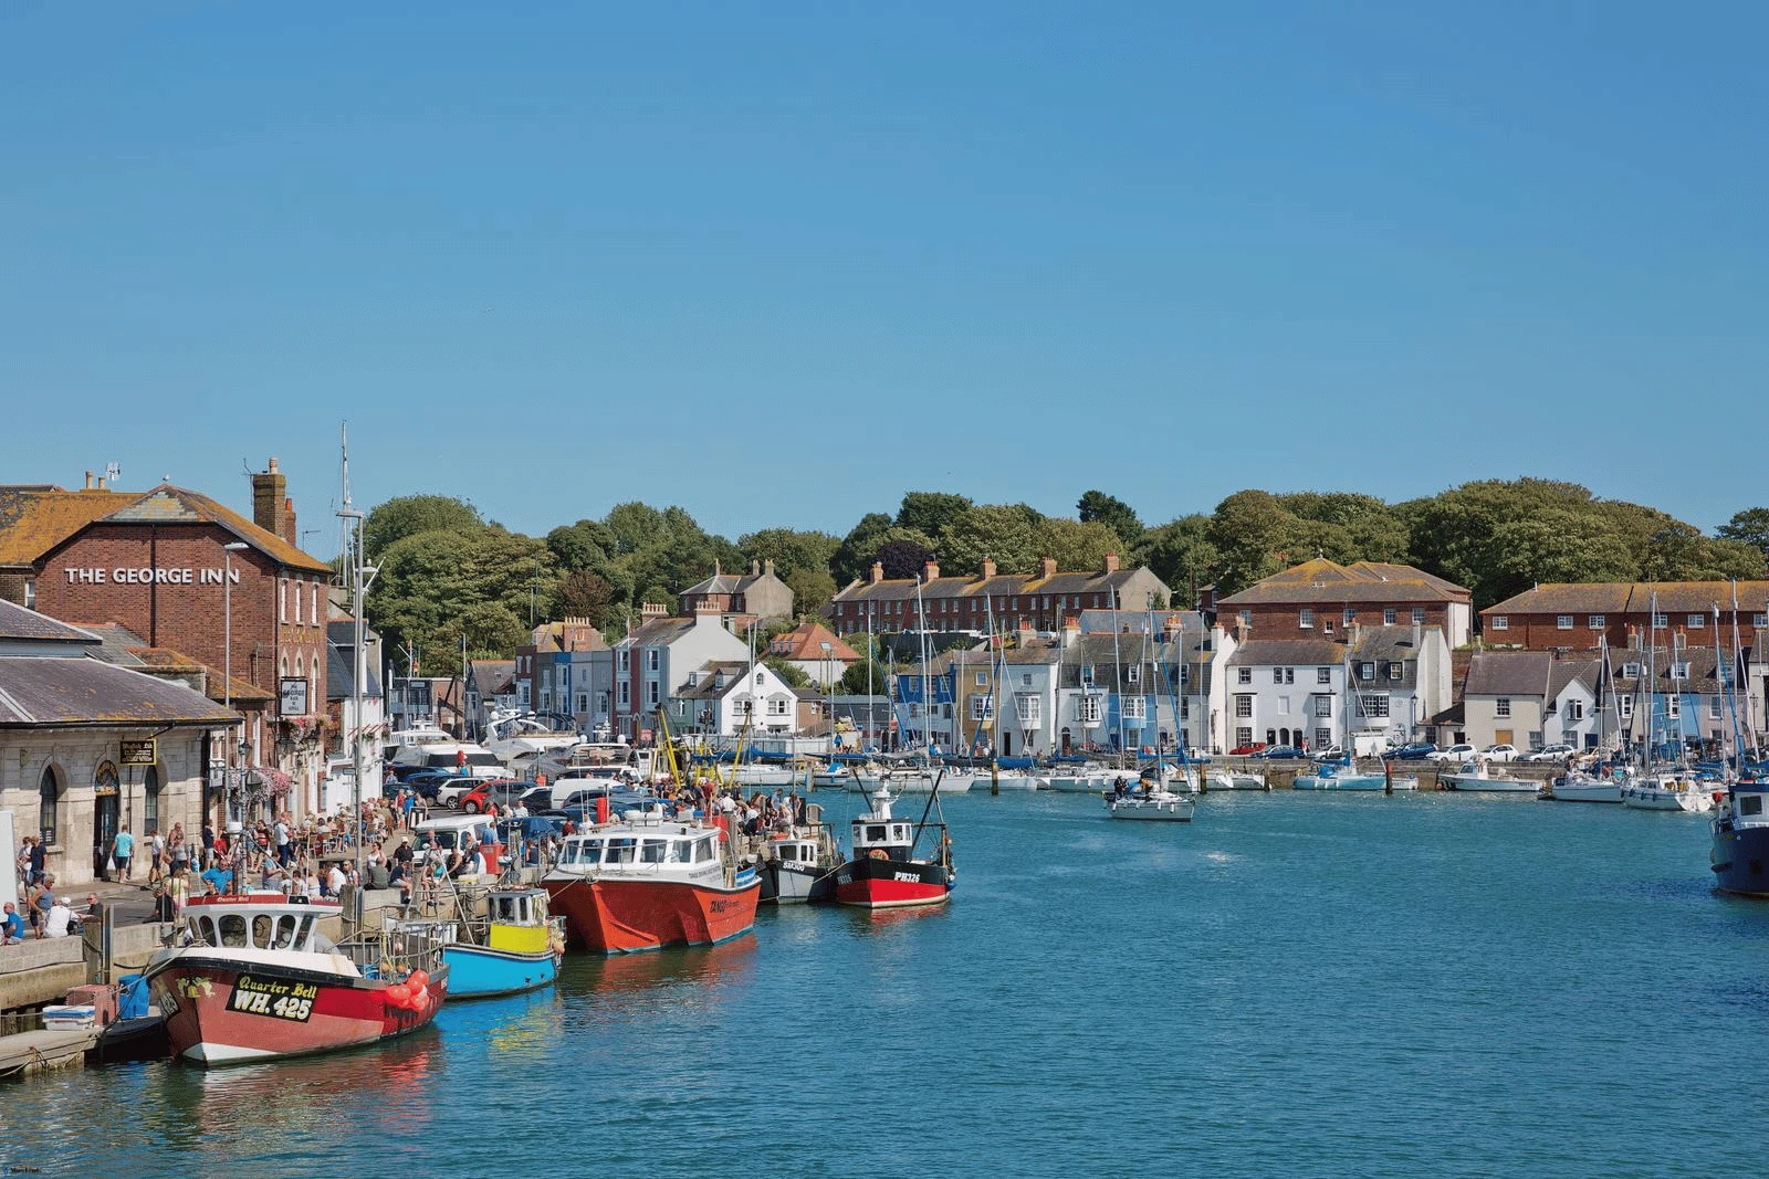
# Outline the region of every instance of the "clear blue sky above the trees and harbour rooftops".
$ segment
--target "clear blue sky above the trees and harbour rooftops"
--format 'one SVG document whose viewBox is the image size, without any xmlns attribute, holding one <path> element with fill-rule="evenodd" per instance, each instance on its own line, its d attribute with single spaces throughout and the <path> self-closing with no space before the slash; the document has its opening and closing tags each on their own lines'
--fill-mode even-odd
<svg viewBox="0 0 1769 1179">
<path fill-rule="evenodd" d="M 371 9 L 361 12 L 357 9 Z M 0 481 L 1762 486 L 1762 4 L 0 7 Z"/>
</svg>

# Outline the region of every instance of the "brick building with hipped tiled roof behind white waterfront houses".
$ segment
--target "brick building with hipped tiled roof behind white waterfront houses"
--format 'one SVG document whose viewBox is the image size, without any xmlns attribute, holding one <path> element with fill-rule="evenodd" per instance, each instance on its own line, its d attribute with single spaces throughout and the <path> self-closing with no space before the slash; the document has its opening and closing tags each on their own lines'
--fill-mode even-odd
<svg viewBox="0 0 1769 1179">
<path fill-rule="evenodd" d="M 1451 647 L 1461 647 L 1474 629 L 1474 596 L 1467 589 L 1424 569 L 1376 560 L 1306 560 L 1217 599 L 1215 608 L 1224 628 L 1260 642 L 1330 642 L 1359 624 L 1436 628 Z"/>
</svg>

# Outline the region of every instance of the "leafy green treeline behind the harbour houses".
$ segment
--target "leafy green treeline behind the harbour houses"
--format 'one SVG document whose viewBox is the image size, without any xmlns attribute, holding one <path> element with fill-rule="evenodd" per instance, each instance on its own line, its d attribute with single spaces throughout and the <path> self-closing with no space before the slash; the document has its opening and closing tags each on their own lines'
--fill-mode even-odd
<svg viewBox="0 0 1769 1179">
<path fill-rule="evenodd" d="M 945 574 L 975 576 L 984 557 L 1001 573 L 1031 573 L 1040 557 L 1056 559 L 1060 569 L 1099 569 L 1111 551 L 1148 564 L 1176 603 L 1194 601 L 1203 585 L 1231 594 L 1323 555 L 1415 564 L 1470 587 L 1481 608 L 1535 582 L 1760 578 L 1769 509 L 1741 511 L 1704 536 L 1661 511 L 1603 500 L 1573 483 L 1518 479 L 1467 483 L 1401 504 L 1352 491 L 1249 490 L 1210 514 L 1145 527 L 1104 491 L 1084 493 L 1076 516 L 909 491 L 893 514 L 869 513 L 842 537 L 762 529 L 731 543 L 681 507 L 619 504 L 601 520 L 529 537 L 462 500 L 409 495 L 370 513 L 364 534 L 368 557 L 380 566 L 371 622 L 444 670 L 458 661 L 463 635 L 469 654 L 508 656 L 525 642 L 531 619 L 587 617 L 619 633 L 642 603 L 674 610 L 676 596 L 715 564 L 743 573 L 752 560 L 773 560 L 805 615 L 840 585 L 869 576 L 874 560 L 892 578 L 915 576 L 930 559 Z"/>
</svg>

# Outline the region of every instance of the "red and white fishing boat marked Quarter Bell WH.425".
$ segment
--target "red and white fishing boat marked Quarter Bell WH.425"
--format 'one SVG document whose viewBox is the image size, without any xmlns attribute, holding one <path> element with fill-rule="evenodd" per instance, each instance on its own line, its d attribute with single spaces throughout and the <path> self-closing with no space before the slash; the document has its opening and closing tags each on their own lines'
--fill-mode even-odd
<svg viewBox="0 0 1769 1179">
<path fill-rule="evenodd" d="M 173 1059 L 260 1062 L 428 1023 L 448 993 L 440 939 L 389 932 L 336 946 L 318 924 L 338 912 L 338 901 L 281 893 L 191 898 L 186 944 L 147 969 Z"/>
</svg>

